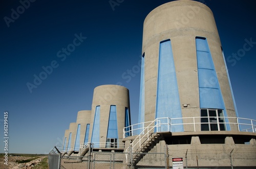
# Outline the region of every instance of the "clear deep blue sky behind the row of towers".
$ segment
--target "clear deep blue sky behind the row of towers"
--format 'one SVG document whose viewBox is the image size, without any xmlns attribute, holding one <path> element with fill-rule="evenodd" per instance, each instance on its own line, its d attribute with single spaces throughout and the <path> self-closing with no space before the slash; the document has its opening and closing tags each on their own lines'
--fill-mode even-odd
<svg viewBox="0 0 256 169">
<path fill-rule="evenodd" d="M 55 144 L 61 146 L 77 112 L 91 110 L 93 89 L 99 85 L 127 87 L 132 123 L 137 123 L 140 72 L 131 79 L 122 75 L 139 63 L 144 18 L 169 1 L 124 0 L 114 10 L 109 0 L 33 1 L 26 8 L 19 1 L 4 1 L 0 7 L 0 136 L 3 140 L 4 111 L 8 111 L 9 153 L 49 153 Z M 214 12 L 229 57 L 239 116 L 256 119 L 256 2 L 205 0 L 205 4 Z M 240 53 L 243 57 L 232 58 L 232 53 L 241 52 L 245 39 L 253 42 L 250 49 Z M 62 50 L 67 47 L 71 52 Z M 42 73 L 46 72 L 42 67 L 51 64 L 55 68 Z M 29 90 L 34 75 L 45 80 L 35 81 Z M 1 141 L 1 153 L 3 146 Z"/>
</svg>

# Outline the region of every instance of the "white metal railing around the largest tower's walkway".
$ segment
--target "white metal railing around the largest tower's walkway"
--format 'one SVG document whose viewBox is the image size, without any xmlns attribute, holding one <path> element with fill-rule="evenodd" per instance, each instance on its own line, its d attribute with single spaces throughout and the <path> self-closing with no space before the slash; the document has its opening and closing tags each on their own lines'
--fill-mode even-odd
<svg viewBox="0 0 256 169">
<path fill-rule="evenodd" d="M 203 123 L 202 119 L 207 119 L 208 122 Z M 212 120 L 212 119 L 215 119 L 215 120 Z M 184 121 L 186 123 L 184 123 Z M 157 125 L 152 126 L 153 123 L 156 123 Z M 155 132 L 165 132 L 165 131 L 175 132 L 173 130 L 175 126 L 182 126 L 185 128 L 188 125 L 189 125 L 189 131 L 202 131 L 201 125 L 208 125 L 209 131 L 222 131 L 223 128 L 221 128 L 220 126 L 224 126 L 225 131 L 241 131 L 241 132 L 253 132 L 253 133 L 256 132 L 256 120 L 249 119 L 249 118 L 220 117 L 220 116 L 219 117 L 218 116 L 182 117 L 182 118 L 162 117 L 162 118 L 156 118 L 152 122 L 139 123 L 139 124 L 135 124 L 135 125 L 131 125 L 123 128 L 123 138 L 127 136 L 144 134 L 144 131 L 147 130 L 148 127 L 150 126 L 151 128 L 154 128 Z M 217 129 L 210 130 L 210 125 L 217 125 Z M 236 129 L 230 128 L 229 127 L 230 125 L 235 125 L 237 127 Z M 184 131 L 186 131 L 186 129 Z"/>
</svg>

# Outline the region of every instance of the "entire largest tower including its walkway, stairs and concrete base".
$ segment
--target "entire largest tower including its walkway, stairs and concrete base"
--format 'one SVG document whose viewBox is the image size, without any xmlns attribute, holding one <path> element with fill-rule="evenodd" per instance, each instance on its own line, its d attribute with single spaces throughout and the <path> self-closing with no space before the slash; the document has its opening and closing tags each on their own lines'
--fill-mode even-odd
<svg viewBox="0 0 256 169">
<path fill-rule="evenodd" d="M 145 130 L 139 137 L 124 139 L 126 152 L 157 153 L 165 145 L 170 157 L 185 159 L 189 153 L 191 168 L 199 163 L 226 166 L 230 161 L 234 166 L 255 166 L 254 122 L 249 119 L 247 132 L 242 132 L 237 117 L 211 10 L 183 0 L 151 11 L 144 20 L 142 43 L 139 123 L 143 124 L 138 128 Z M 142 155 L 138 156 L 134 165 L 156 159 L 140 161 Z"/>
</svg>

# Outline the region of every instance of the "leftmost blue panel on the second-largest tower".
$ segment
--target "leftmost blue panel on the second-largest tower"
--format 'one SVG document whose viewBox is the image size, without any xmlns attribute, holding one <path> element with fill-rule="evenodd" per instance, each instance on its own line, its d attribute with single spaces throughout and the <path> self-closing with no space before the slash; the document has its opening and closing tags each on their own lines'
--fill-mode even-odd
<svg viewBox="0 0 256 169">
<path fill-rule="evenodd" d="M 99 143 L 99 129 L 100 129 L 100 106 L 96 106 L 94 122 L 93 122 L 93 131 L 92 131 L 92 143 Z M 94 146 L 99 148 L 99 146 Z"/>
</svg>

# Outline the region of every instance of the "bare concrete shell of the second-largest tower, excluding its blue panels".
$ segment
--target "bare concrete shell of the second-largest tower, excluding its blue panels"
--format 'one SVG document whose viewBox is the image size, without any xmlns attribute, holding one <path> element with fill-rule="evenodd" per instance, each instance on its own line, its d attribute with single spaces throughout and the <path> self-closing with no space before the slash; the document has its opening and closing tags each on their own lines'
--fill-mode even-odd
<svg viewBox="0 0 256 169">
<path fill-rule="evenodd" d="M 92 139 L 93 130 L 99 130 L 99 142 L 106 142 L 110 107 L 111 105 L 116 105 L 118 139 L 119 142 L 122 142 L 123 128 L 125 125 L 125 107 L 129 108 L 130 111 L 129 100 L 129 90 L 123 86 L 102 85 L 94 89 L 89 141 Z M 100 106 L 99 129 L 93 129 L 96 106 Z"/>
</svg>

